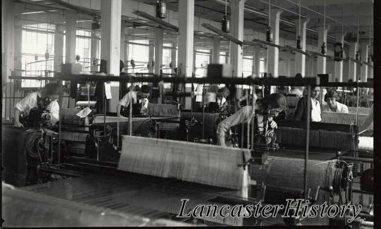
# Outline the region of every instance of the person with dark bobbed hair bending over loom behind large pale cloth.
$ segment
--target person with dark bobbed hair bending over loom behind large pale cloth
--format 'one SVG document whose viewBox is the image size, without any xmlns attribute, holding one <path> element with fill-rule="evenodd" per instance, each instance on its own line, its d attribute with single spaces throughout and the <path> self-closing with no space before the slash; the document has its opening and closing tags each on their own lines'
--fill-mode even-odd
<svg viewBox="0 0 381 229">
<path fill-rule="evenodd" d="M 286 97 L 280 93 L 270 94 L 263 101 L 256 103 L 257 96 L 254 93 L 254 110 L 269 109 L 270 111 L 275 111 L 275 117 L 279 115 L 280 112 L 286 107 L 287 101 Z M 270 114 L 270 112 L 269 112 Z M 229 129 L 233 126 L 248 122 L 254 117 L 255 113 L 253 112 L 253 106 L 245 106 L 240 109 L 234 115 L 229 116 L 224 119 L 217 127 L 217 145 L 226 146 L 225 137 Z M 269 125 L 271 128 L 277 128 L 277 123 L 273 120 L 273 116 L 267 116 Z M 257 123 L 258 129 L 263 129 L 264 126 L 263 115 L 257 114 Z"/>
</svg>

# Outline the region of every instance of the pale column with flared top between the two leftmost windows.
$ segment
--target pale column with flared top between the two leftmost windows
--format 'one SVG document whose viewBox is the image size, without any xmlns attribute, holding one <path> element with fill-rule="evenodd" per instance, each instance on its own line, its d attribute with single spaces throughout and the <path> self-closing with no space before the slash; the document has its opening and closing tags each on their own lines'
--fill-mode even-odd
<svg viewBox="0 0 381 229">
<path fill-rule="evenodd" d="M 65 64 L 76 63 L 76 21 L 77 14 L 74 11 L 65 11 L 66 34 L 65 34 Z"/>
</svg>

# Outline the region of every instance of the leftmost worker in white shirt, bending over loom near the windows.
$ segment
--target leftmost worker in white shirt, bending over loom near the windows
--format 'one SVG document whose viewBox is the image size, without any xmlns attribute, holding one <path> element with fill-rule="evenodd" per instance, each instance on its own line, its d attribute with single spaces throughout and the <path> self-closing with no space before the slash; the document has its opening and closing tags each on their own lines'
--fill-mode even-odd
<svg viewBox="0 0 381 229">
<path fill-rule="evenodd" d="M 29 112 L 33 108 L 41 109 L 39 107 L 40 101 L 43 98 L 49 98 L 50 103 L 48 106 L 43 108 L 48 110 L 51 114 L 51 123 L 55 124 L 59 120 L 59 84 L 49 83 L 43 89 L 37 92 L 31 92 L 25 96 L 21 101 L 15 105 L 15 126 L 24 127 L 23 123 L 20 122 L 20 114 L 24 113 L 29 115 Z"/>
</svg>

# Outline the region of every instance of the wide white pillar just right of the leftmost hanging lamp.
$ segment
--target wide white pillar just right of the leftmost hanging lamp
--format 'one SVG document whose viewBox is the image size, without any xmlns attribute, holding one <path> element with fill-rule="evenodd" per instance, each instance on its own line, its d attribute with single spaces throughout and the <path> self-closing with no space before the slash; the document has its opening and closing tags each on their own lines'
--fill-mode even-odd
<svg viewBox="0 0 381 229">
<path fill-rule="evenodd" d="M 183 77 L 192 77 L 193 70 L 193 33 L 195 19 L 195 0 L 178 1 L 178 72 Z M 191 86 L 185 85 L 185 91 L 191 92 Z M 185 109 L 191 108 L 191 98 L 186 97 Z"/>
</svg>

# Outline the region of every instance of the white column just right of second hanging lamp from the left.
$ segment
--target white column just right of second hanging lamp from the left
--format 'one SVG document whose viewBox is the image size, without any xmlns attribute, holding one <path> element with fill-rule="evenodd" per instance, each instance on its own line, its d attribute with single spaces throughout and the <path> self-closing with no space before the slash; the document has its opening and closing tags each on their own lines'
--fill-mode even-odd
<svg viewBox="0 0 381 229">
<path fill-rule="evenodd" d="M 230 0 L 230 35 L 243 41 L 243 19 L 246 0 Z M 230 64 L 232 65 L 232 76 L 242 77 L 243 49 L 242 46 L 230 42 Z"/>
</svg>

